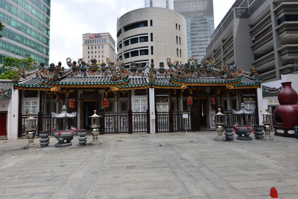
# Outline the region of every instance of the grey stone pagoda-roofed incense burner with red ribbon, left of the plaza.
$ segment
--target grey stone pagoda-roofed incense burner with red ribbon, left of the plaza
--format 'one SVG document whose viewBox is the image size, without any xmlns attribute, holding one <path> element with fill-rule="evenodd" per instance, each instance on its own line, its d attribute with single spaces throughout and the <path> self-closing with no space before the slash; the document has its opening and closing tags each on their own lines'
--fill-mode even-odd
<svg viewBox="0 0 298 199">
<path fill-rule="evenodd" d="M 53 119 L 56 119 L 56 127 L 51 130 L 51 135 L 58 140 L 58 143 L 55 144 L 56 148 L 72 145 L 70 141 L 73 139 L 73 136 L 77 134 L 77 129 L 73 127 L 71 123 L 76 115 L 76 112 L 67 113 L 65 105 L 62 107 L 61 113 L 52 113 Z"/>
</svg>

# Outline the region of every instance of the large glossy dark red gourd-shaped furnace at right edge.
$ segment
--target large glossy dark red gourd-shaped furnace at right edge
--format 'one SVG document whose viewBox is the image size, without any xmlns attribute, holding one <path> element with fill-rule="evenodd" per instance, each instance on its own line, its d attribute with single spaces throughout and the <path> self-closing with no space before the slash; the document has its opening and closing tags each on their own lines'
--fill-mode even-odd
<svg viewBox="0 0 298 199">
<path fill-rule="evenodd" d="M 277 126 L 298 126 L 298 94 L 291 86 L 292 82 L 283 82 L 278 93 L 280 105 L 274 110 L 274 120 Z"/>
</svg>

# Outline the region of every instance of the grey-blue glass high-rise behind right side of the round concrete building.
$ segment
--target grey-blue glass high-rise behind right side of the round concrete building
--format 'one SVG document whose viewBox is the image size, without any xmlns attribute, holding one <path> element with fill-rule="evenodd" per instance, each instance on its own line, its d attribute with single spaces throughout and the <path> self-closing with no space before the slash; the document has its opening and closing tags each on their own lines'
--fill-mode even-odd
<svg viewBox="0 0 298 199">
<path fill-rule="evenodd" d="M 214 31 L 213 1 L 174 0 L 174 10 L 186 19 L 187 56 L 201 61 Z"/>
</svg>

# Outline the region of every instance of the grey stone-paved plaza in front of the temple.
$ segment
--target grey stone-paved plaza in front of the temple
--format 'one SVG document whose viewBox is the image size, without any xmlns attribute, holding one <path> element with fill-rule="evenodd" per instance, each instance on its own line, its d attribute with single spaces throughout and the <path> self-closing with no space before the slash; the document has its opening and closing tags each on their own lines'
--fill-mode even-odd
<svg viewBox="0 0 298 199">
<path fill-rule="evenodd" d="M 298 198 L 298 139 L 217 132 L 100 135 L 99 146 L 0 141 L 0 198 Z M 253 136 L 253 135 L 252 135 Z M 39 145 L 39 139 L 35 144 Z M 92 136 L 87 136 L 87 144 Z"/>
</svg>

